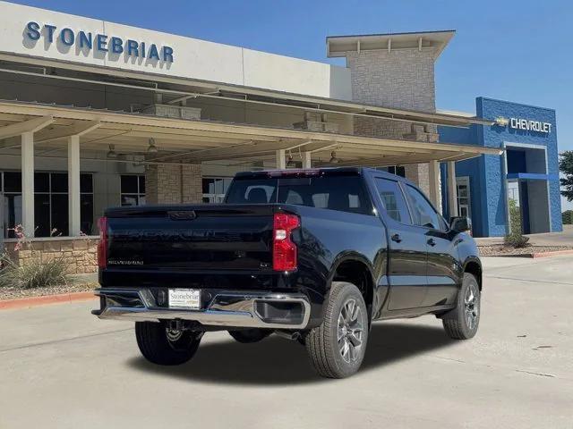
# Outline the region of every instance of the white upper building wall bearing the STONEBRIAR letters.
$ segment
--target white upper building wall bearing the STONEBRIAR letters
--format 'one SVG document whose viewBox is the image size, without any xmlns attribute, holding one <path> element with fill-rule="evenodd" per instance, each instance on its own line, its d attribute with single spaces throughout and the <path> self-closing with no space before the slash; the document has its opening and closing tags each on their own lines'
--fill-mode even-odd
<svg viewBox="0 0 573 429">
<path fill-rule="evenodd" d="M 352 97 L 350 71 L 344 67 L 1 1 L 0 16 L 0 51 L 6 54 L 30 55 L 127 71 L 145 71 L 314 97 Z M 54 41 L 47 41 L 45 29 L 38 40 L 31 40 L 26 34 L 30 21 L 37 22 L 40 30 L 45 24 L 56 26 Z M 173 48 L 174 61 L 154 62 L 126 53 L 98 51 L 95 48 L 95 40 L 92 49 L 81 49 L 77 37 L 73 46 L 65 46 L 59 38 L 60 30 L 64 28 L 72 29 L 76 35 L 80 30 L 91 32 L 94 39 L 97 34 L 103 34 L 108 38 L 145 42 L 148 48 L 151 44 L 156 44 L 158 48 L 170 46 Z"/>
</svg>

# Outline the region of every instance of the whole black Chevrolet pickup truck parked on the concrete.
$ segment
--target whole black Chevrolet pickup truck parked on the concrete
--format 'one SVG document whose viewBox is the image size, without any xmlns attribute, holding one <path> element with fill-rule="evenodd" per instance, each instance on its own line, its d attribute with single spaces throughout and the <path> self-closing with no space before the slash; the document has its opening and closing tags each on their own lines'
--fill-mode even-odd
<svg viewBox="0 0 573 429">
<path fill-rule="evenodd" d="M 205 332 L 271 333 L 326 377 L 361 366 L 373 321 L 432 314 L 475 335 L 482 265 L 466 218 L 367 168 L 242 172 L 224 204 L 110 208 L 100 220 L 102 319 L 135 322 L 144 357 L 178 365 Z"/>
</svg>

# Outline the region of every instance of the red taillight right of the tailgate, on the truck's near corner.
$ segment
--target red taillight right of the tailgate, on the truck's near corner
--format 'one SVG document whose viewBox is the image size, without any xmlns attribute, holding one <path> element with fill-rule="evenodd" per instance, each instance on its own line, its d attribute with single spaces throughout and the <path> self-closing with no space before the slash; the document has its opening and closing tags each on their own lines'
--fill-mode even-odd
<svg viewBox="0 0 573 429">
<path fill-rule="evenodd" d="M 273 227 L 272 268 L 275 271 L 293 271 L 298 260 L 291 232 L 301 226 L 295 214 L 276 213 Z"/>
</svg>

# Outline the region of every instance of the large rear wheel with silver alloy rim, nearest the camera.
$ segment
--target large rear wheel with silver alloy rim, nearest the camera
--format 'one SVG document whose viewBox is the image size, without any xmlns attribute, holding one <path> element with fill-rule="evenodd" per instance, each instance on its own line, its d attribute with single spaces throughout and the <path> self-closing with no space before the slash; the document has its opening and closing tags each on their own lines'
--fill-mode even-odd
<svg viewBox="0 0 573 429">
<path fill-rule="evenodd" d="M 320 326 L 305 337 L 312 366 L 328 378 L 345 378 L 360 368 L 368 341 L 368 310 L 360 290 L 348 282 L 332 282 Z"/>
</svg>

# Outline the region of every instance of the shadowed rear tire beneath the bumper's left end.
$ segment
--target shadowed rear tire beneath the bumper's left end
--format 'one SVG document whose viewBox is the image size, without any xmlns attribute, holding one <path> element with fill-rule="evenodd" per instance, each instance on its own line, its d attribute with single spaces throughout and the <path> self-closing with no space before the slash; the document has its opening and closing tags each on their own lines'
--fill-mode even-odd
<svg viewBox="0 0 573 429">
<path fill-rule="evenodd" d="M 184 364 L 195 355 L 201 333 L 169 331 L 164 323 L 136 322 L 135 338 L 147 360 L 157 365 L 173 366 Z"/>
</svg>

